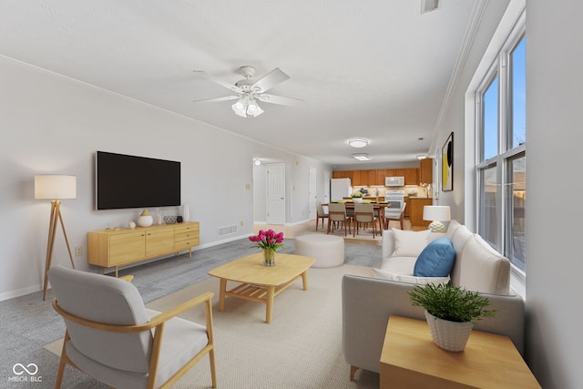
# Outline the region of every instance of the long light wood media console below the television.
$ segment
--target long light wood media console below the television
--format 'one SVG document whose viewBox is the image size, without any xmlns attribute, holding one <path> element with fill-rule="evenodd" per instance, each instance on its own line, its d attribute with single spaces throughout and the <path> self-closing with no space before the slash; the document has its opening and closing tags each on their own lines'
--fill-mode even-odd
<svg viewBox="0 0 583 389">
<path fill-rule="evenodd" d="M 199 222 L 162 224 L 131 229 L 87 232 L 87 262 L 106 268 L 118 267 L 189 251 L 199 245 Z"/>
</svg>

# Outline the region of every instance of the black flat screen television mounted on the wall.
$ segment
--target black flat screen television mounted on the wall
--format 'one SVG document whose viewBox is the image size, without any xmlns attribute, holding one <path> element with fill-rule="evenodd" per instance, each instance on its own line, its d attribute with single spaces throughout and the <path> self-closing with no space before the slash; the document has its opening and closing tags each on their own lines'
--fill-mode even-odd
<svg viewBox="0 0 583 389">
<path fill-rule="evenodd" d="M 96 152 L 96 209 L 180 205 L 180 162 Z"/>
</svg>

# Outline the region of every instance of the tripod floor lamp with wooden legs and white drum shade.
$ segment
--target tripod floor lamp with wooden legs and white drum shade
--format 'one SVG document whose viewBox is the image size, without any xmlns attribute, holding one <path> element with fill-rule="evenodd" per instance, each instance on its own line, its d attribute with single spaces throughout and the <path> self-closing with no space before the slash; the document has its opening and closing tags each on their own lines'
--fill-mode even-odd
<svg viewBox="0 0 583 389">
<path fill-rule="evenodd" d="M 61 223 L 63 235 L 65 235 L 66 250 L 69 251 L 71 265 L 75 269 L 73 255 L 69 240 L 66 238 L 65 224 L 61 216 L 61 199 L 77 199 L 77 177 L 63 176 L 58 174 L 43 174 L 35 176 L 35 199 L 51 200 L 51 219 L 48 223 L 48 241 L 46 243 L 46 262 L 45 262 L 45 282 L 43 286 L 43 300 L 46 300 L 46 284 L 48 283 L 48 271 L 51 268 L 53 260 L 53 248 L 55 247 L 56 223 Z"/>
</svg>

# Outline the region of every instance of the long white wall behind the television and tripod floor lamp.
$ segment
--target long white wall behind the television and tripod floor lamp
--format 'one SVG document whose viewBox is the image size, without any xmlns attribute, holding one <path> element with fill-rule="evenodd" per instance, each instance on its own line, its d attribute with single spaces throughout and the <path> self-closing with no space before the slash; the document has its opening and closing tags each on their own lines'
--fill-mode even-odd
<svg viewBox="0 0 583 389">
<path fill-rule="evenodd" d="M 308 174 L 295 167 L 327 168 L 312 159 L 3 57 L 0 85 L 0 222 L 4 226 L 0 234 L 0 300 L 42 288 L 50 205 L 34 199 L 35 174 L 77 176 L 77 200 L 63 200 L 61 211 L 72 248 L 82 246 L 84 250 L 82 257 L 74 257 L 76 266 L 87 270 L 87 231 L 126 226 L 141 211 L 94 210 L 96 150 L 179 160 L 182 202 L 189 204 L 190 220 L 201 223 L 201 247 L 251 233 L 254 157 L 277 155 L 294 167 L 290 178 L 296 189 L 306 192 Z M 308 205 L 302 203 L 302 196 L 295 199 L 293 207 L 298 212 L 291 215 L 288 211 L 286 221 L 307 218 L 304 210 Z M 162 210 L 166 215 L 178 214 L 174 207 Z M 220 227 L 240 226 L 240 220 L 243 227 L 237 236 L 218 236 Z M 54 253 L 54 263 L 70 266 L 60 227 Z M 97 268 L 91 267 L 91 271 Z"/>
</svg>

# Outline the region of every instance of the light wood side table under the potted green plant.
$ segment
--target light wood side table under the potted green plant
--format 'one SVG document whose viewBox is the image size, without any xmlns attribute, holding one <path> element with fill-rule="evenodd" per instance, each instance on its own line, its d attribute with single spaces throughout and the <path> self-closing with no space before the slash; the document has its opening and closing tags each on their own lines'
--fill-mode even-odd
<svg viewBox="0 0 583 389">
<path fill-rule="evenodd" d="M 540 388 L 507 336 L 473 331 L 459 353 L 437 347 L 427 322 L 389 317 L 381 389 Z"/>
</svg>

